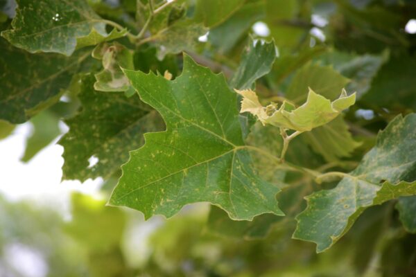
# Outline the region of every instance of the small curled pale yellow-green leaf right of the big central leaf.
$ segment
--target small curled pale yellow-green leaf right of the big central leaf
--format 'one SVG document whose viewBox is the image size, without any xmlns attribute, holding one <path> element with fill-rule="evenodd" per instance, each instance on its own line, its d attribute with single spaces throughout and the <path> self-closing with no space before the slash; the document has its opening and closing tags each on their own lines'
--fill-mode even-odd
<svg viewBox="0 0 416 277">
<path fill-rule="evenodd" d="M 277 104 L 270 104 L 267 107 L 261 106 L 259 98 L 252 90 L 236 90 L 236 92 L 243 96 L 241 112 L 249 111 L 257 116 L 264 125 L 270 124 L 300 132 L 311 131 L 315 127 L 329 123 L 343 109 L 354 105 L 355 102 L 355 93 L 347 96 L 345 90 L 338 99 L 331 102 L 309 89 L 308 98 L 304 105 L 295 108 L 285 101 L 277 109 Z"/>
</svg>

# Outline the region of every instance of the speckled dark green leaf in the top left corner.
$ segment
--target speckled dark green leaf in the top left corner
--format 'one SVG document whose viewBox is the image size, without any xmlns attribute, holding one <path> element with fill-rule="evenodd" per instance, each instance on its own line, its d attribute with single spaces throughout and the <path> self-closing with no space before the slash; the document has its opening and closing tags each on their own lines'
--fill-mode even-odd
<svg viewBox="0 0 416 277">
<path fill-rule="evenodd" d="M 11 44 L 31 53 L 71 55 L 80 46 L 125 35 L 125 30 L 105 31 L 106 21 L 84 0 L 17 0 L 12 29 L 1 33 Z M 80 43 L 80 46 L 77 43 Z"/>
</svg>

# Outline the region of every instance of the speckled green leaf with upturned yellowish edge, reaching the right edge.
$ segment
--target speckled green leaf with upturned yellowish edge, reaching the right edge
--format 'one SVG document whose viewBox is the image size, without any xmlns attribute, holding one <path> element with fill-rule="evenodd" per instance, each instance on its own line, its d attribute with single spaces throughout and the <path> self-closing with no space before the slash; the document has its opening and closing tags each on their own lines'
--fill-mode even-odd
<svg viewBox="0 0 416 277">
<path fill-rule="evenodd" d="M 331 190 L 306 197 L 293 238 L 329 249 L 366 208 L 416 195 L 416 114 L 397 116 L 377 136 L 376 146 Z"/>
</svg>

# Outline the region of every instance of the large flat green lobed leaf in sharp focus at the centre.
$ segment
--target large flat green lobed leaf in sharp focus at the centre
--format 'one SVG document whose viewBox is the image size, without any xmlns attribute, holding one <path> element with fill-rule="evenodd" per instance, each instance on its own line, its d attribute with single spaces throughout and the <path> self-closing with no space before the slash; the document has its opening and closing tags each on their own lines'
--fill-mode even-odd
<svg viewBox="0 0 416 277">
<path fill-rule="evenodd" d="M 236 93 L 184 55 L 182 75 L 173 81 L 153 73 L 125 71 L 141 100 L 164 118 L 165 132 L 146 134 L 131 152 L 110 204 L 171 217 L 184 205 L 211 202 L 236 220 L 262 213 L 282 215 L 277 186 L 254 174 L 244 145 Z M 207 151 L 208 150 L 208 151 Z"/>
</svg>

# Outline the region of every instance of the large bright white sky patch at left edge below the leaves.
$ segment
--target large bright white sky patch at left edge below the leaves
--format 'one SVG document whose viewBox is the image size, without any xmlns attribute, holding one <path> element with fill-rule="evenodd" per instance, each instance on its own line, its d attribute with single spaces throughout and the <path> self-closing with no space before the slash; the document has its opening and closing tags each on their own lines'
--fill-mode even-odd
<svg viewBox="0 0 416 277">
<path fill-rule="evenodd" d="M 66 127 L 66 126 L 62 126 Z M 0 193 L 10 201 L 31 199 L 41 206 L 51 206 L 62 216 L 70 216 L 71 193 L 78 191 L 103 199 L 99 193 L 103 179 L 62 181 L 63 148 L 55 140 L 37 153 L 31 161 L 23 163 L 26 137 L 31 133 L 31 123 L 19 125 L 7 139 L 0 141 Z"/>
</svg>

